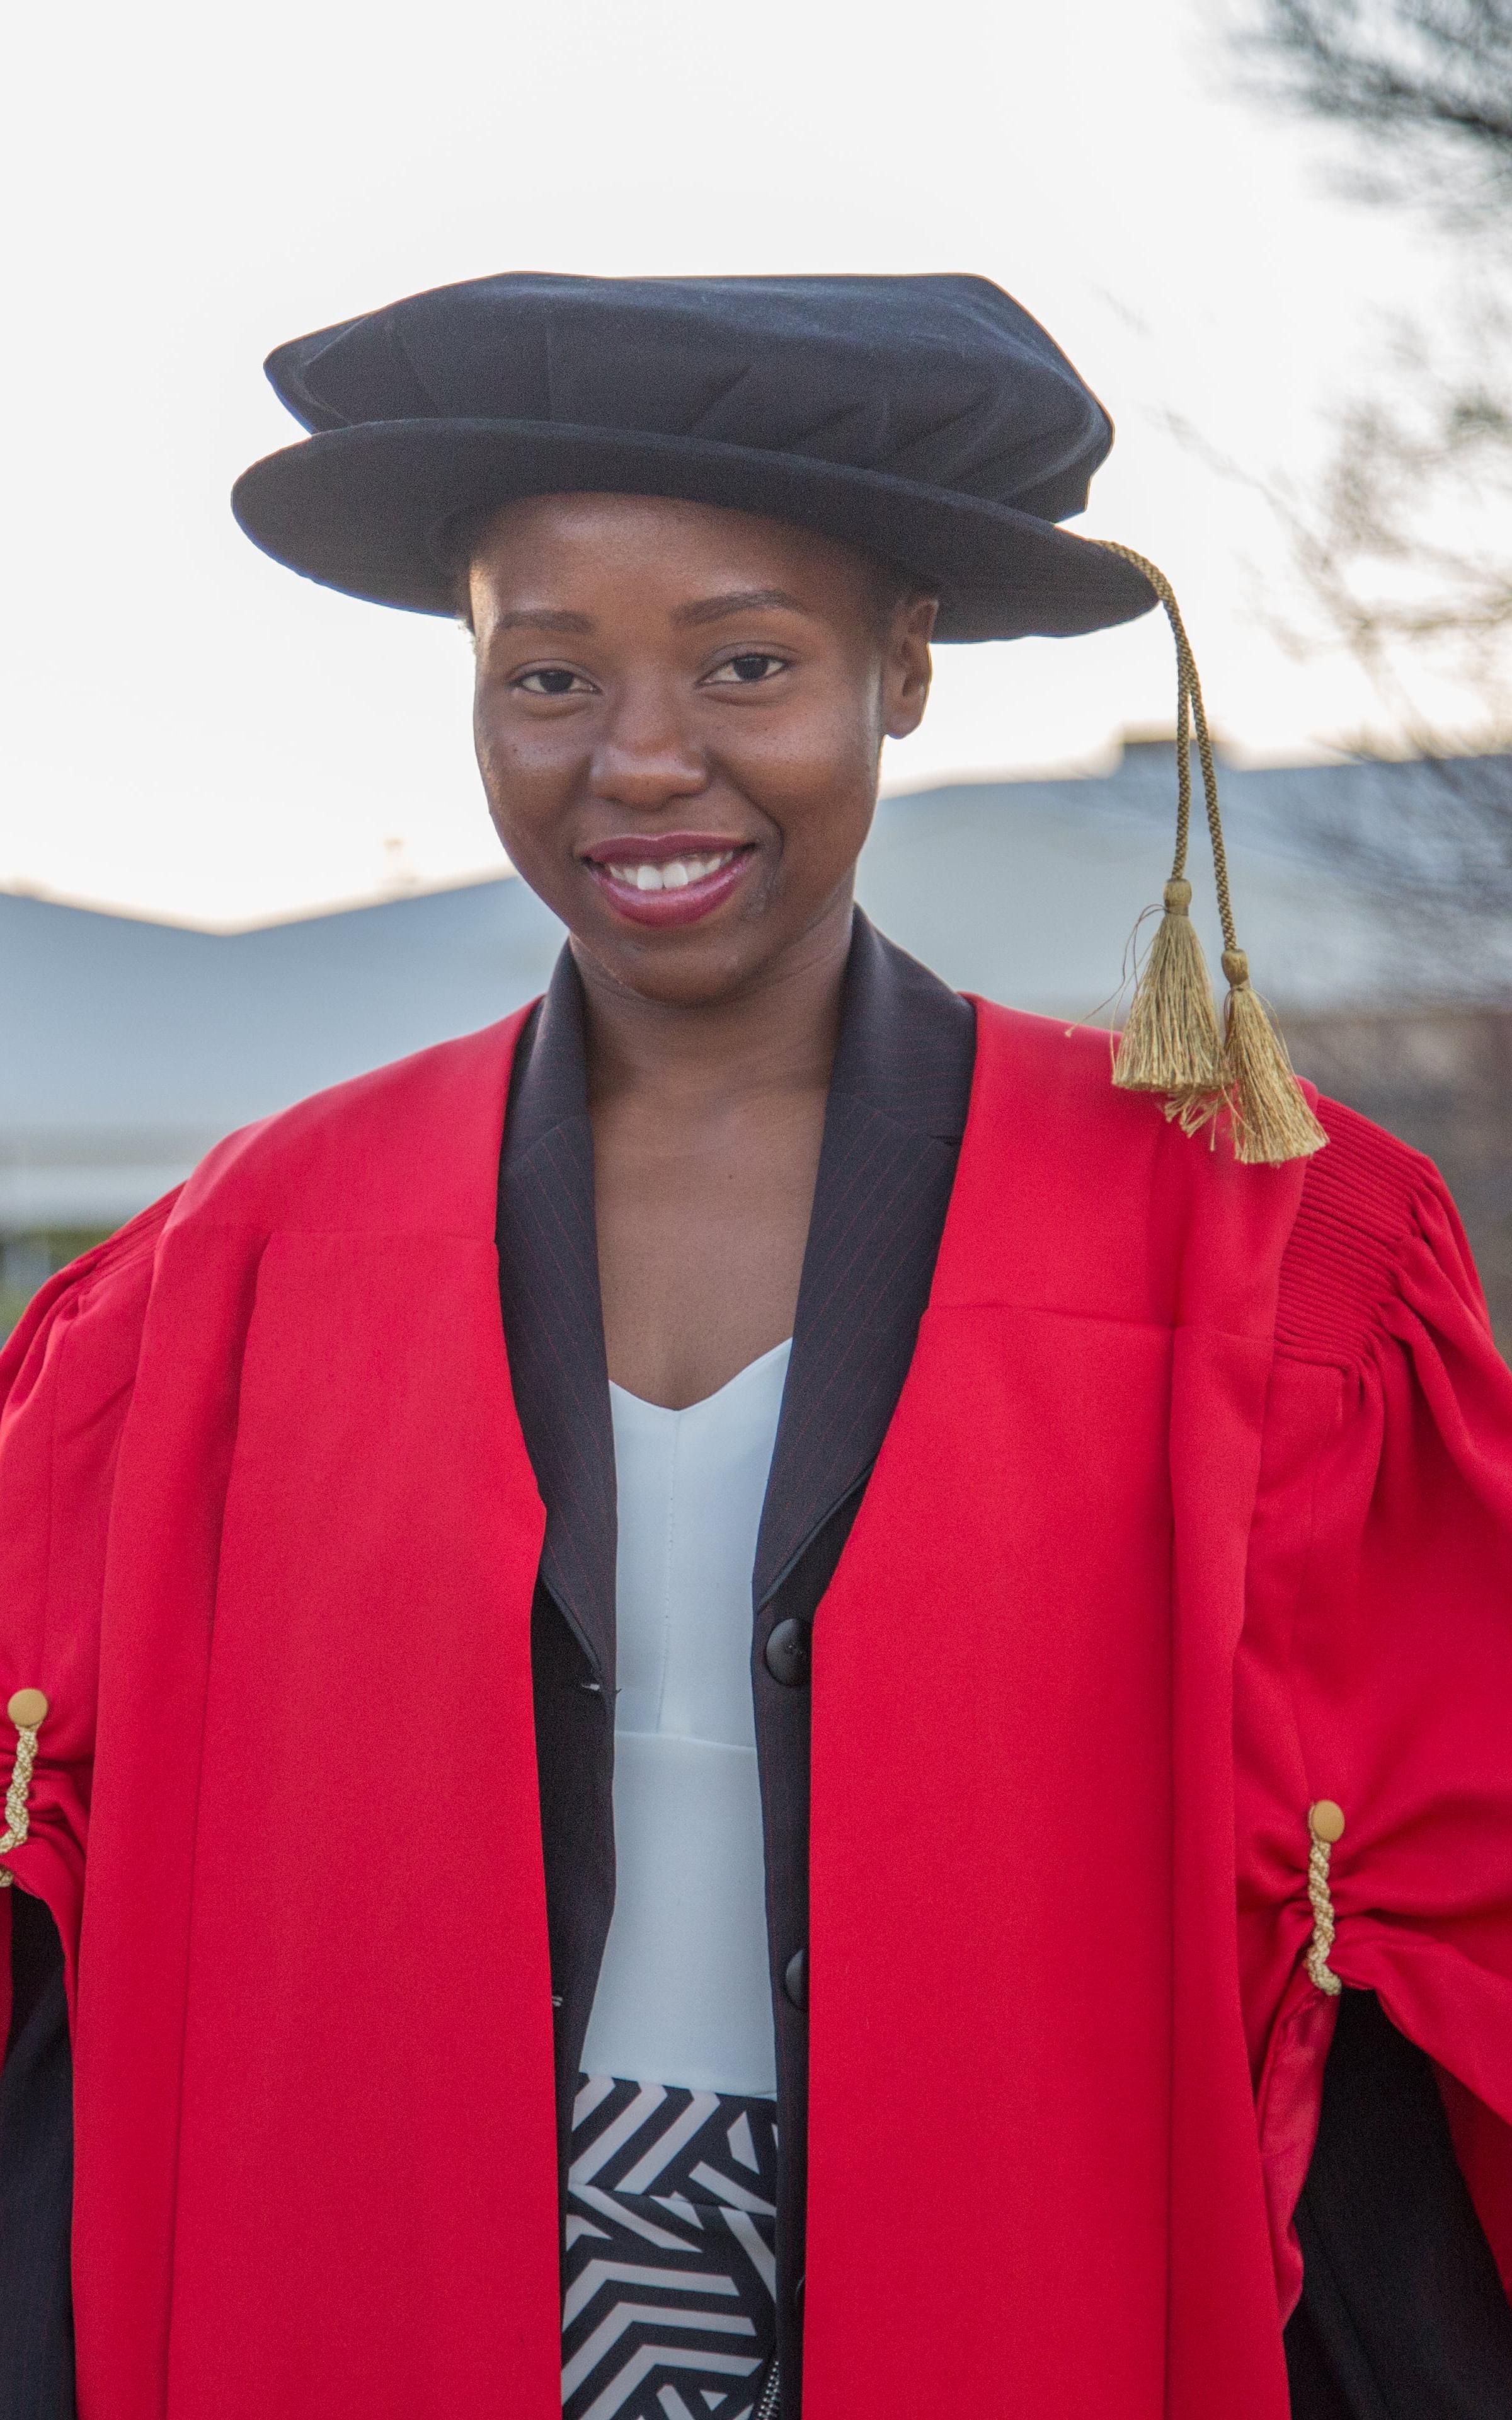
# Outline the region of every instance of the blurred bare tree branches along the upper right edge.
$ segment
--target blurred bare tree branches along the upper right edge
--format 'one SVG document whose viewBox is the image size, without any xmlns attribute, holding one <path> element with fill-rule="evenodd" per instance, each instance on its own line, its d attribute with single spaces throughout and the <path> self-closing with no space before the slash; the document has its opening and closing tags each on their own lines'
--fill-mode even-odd
<svg viewBox="0 0 1512 2420">
<path fill-rule="evenodd" d="M 1347 786 L 1309 854 L 1369 891 L 1403 973 L 1505 987 L 1512 932 L 1512 0 L 1246 0 L 1251 87 L 1343 128 L 1364 191 L 1473 225 L 1478 290 L 1439 324 L 1396 329 L 1347 402 L 1309 489 L 1258 479 L 1302 610 L 1263 612 L 1294 656 L 1338 649 L 1415 755 L 1413 779 Z M 1357 179 L 1360 189 L 1360 179 Z M 1435 711 L 1449 682 L 1473 736 Z M 1442 690 L 1437 690 L 1442 697 Z M 1464 721 L 1464 716 L 1461 716 Z M 1473 748 L 1468 753 L 1466 748 Z M 1338 794 L 1340 799 L 1345 791 Z"/>
</svg>

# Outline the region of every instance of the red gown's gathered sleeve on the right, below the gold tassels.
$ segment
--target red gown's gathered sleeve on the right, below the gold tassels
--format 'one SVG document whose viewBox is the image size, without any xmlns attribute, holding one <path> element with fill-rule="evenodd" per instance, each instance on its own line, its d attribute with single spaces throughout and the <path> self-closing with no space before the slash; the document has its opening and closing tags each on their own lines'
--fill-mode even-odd
<svg viewBox="0 0 1512 2420">
<path fill-rule="evenodd" d="M 1236 1665 L 1241 1984 L 1282 2309 L 1326 1977 L 1374 1992 L 1435 2062 L 1512 2289 L 1512 1372 L 1437 1171 L 1323 1113 Z M 1309 1890 L 1316 1800 L 1343 1837 Z"/>
</svg>

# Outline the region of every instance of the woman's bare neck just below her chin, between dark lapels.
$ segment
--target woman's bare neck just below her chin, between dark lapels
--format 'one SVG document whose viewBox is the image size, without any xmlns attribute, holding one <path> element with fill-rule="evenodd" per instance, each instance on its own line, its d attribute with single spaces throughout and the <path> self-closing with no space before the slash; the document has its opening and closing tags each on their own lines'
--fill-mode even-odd
<svg viewBox="0 0 1512 2420">
<path fill-rule="evenodd" d="M 728 1111 L 740 1096 L 825 1091 L 839 1036 L 852 895 L 719 999 L 646 999 L 576 951 L 588 1002 L 593 1104 L 660 1094 L 670 1111 Z"/>
</svg>

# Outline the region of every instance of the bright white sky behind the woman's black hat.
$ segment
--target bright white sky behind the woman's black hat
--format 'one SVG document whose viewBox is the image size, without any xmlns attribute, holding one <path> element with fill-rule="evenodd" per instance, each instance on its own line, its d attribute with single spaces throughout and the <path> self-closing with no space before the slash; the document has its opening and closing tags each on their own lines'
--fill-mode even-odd
<svg viewBox="0 0 1512 2420">
<path fill-rule="evenodd" d="M 0 886 L 235 927 L 498 864 L 467 639 L 298 581 L 227 508 L 298 436 L 273 344 L 498 269 L 997 278 L 1113 411 L 1074 528 L 1173 578 L 1236 755 L 1367 728 L 1347 666 L 1268 632 L 1285 544 L 1248 482 L 1306 477 L 1442 257 L 1236 92 L 1224 7 L 27 10 Z M 1103 767 L 1171 697 L 1159 617 L 941 649 L 885 784 Z"/>
</svg>

